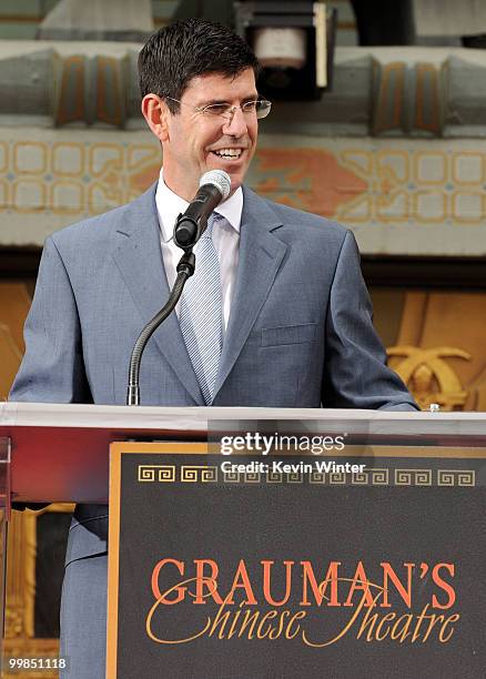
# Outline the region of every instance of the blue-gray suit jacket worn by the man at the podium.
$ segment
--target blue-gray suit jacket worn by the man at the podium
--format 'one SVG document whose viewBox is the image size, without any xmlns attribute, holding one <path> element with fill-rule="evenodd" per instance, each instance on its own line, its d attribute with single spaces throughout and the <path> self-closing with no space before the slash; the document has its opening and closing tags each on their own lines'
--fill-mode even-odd
<svg viewBox="0 0 486 679">
<path fill-rule="evenodd" d="M 47 240 L 12 401 L 125 402 L 132 346 L 169 296 L 154 193 Z M 149 342 L 141 395 L 204 405 L 174 313 Z M 244 189 L 213 405 L 415 409 L 385 365 L 351 232 Z M 105 517 L 78 507 L 68 561 L 105 549 Z"/>
</svg>

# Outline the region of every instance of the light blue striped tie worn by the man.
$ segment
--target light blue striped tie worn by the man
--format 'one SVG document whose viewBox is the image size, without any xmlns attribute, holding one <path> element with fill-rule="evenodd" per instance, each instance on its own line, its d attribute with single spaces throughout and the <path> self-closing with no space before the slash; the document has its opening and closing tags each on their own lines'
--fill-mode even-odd
<svg viewBox="0 0 486 679">
<path fill-rule="evenodd" d="M 195 272 L 185 284 L 179 313 L 182 336 L 207 405 L 214 397 L 223 345 L 220 261 L 212 240 L 214 224 L 221 220 L 224 217 L 213 212 L 194 245 Z"/>
</svg>

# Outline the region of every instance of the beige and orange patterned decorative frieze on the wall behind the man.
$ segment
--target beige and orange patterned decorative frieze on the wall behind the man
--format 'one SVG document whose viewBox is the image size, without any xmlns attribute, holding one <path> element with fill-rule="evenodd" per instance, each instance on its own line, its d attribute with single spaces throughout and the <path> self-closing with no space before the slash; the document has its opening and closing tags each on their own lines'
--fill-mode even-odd
<svg viewBox="0 0 486 679">
<path fill-rule="evenodd" d="M 262 134 L 247 184 L 338 221 L 363 253 L 485 255 L 486 140 Z M 0 126 L 0 244 L 41 244 L 159 176 L 149 132 Z"/>
</svg>

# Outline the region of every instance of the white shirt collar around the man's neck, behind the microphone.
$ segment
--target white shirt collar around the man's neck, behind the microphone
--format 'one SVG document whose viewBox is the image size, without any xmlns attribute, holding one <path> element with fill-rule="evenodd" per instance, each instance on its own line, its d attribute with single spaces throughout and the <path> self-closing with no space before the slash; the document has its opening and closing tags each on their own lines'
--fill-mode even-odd
<svg viewBox="0 0 486 679">
<path fill-rule="evenodd" d="M 159 215 L 159 224 L 162 233 L 162 242 L 172 241 L 175 220 L 185 212 L 189 203 L 174 193 L 165 184 L 163 168 L 160 171 L 159 183 L 155 192 L 155 205 Z M 243 191 L 241 186 L 229 199 L 217 205 L 219 214 L 222 214 L 233 229 L 240 233 L 241 214 L 243 211 Z"/>
</svg>

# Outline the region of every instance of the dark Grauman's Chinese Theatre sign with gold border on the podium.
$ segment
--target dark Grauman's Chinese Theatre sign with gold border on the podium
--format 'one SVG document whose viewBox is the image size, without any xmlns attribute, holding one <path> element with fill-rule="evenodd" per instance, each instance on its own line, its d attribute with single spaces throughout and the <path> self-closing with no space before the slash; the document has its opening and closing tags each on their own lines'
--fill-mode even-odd
<svg viewBox="0 0 486 679">
<path fill-rule="evenodd" d="M 486 450 L 365 454 L 112 444 L 107 676 L 484 676 Z"/>
</svg>

